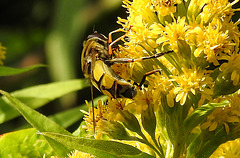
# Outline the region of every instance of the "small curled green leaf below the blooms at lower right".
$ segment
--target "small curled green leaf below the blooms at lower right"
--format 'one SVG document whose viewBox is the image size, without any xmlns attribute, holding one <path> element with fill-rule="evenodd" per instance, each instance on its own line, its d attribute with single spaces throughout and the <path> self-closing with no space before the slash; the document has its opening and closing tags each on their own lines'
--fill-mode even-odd
<svg viewBox="0 0 240 158">
<path fill-rule="evenodd" d="M 227 104 L 229 104 L 227 101 L 222 103 L 208 103 L 194 110 L 194 112 L 191 113 L 183 122 L 184 133 L 190 133 L 192 129 L 202 123 L 213 110 Z"/>
</svg>

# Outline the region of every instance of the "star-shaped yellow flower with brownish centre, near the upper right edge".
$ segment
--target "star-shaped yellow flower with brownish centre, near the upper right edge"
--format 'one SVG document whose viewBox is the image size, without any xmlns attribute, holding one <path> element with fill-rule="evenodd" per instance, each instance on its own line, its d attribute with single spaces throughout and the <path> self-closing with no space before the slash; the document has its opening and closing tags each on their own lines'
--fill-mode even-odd
<svg viewBox="0 0 240 158">
<path fill-rule="evenodd" d="M 228 30 L 221 31 L 221 26 L 221 22 L 214 19 L 207 27 L 196 27 L 191 31 L 191 33 L 196 33 L 195 57 L 204 53 L 207 56 L 207 61 L 217 66 L 219 65 L 218 60 L 233 51 L 235 44 L 229 39 Z"/>
</svg>

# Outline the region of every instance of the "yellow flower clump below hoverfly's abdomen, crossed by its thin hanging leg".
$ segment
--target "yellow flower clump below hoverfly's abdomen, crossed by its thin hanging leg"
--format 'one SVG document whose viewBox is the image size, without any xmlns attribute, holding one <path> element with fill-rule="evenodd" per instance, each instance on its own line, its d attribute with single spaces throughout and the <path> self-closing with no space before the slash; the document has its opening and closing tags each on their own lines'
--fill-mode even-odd
<svg viewBox="0 0 240 158">
<path fill-rule="evenodd" d="M 100 139 L 105 134 L 110 134 L 111 136 L 122 136 L 127 138 L 126 132 L 121 128 L 120 122 L 124 122 L 125 118 L 122 115 L 127 105 L 127 99 L 113 99 L 109 98 L 108 102 L 104 103 L 99 100 L 97 108 L 94 108 L 94 118 L 95 118 L 95 135 L 96 139 Z M 87 103 L 88 105 L 88 103 Z M 92 132 L 93 127 L 93 112 L 92 107 L 89 107 L 89 112 L 82 111 L 84 115 L 84 120 L 86 126 L 83 128 Z M 114 135 L 118 134 L 118 135 Z M 122 133 L 122 135 L 120 135 Z"/>
</svg>

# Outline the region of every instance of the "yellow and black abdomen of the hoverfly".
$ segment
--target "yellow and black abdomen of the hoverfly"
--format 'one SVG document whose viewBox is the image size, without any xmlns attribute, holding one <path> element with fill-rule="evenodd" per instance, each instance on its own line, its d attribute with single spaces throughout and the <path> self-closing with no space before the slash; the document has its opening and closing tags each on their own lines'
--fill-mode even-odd
<svg viewBox="0 0 240 158">
<path fill-rule="evenodd" d="M 92 81 L 99 91 L 113 98 L 133 98 L 136 95 L 135 87 L 117 76 L 102 60 L 95 61 Z"/>
</svg>

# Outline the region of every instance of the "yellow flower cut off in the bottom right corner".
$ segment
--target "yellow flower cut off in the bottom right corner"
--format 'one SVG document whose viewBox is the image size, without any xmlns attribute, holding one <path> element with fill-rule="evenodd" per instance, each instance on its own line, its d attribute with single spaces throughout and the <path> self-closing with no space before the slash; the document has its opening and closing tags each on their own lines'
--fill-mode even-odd
<svg viewBox="0 0 240 158">
<path fill-rule="evenodd" d="M 220 145 L 210 158 L 239 158 L 240 139 L 228 141 Z"/>
</svg>

